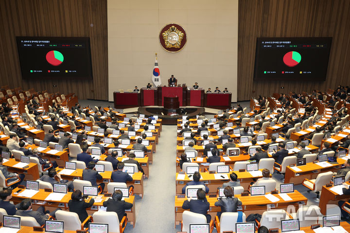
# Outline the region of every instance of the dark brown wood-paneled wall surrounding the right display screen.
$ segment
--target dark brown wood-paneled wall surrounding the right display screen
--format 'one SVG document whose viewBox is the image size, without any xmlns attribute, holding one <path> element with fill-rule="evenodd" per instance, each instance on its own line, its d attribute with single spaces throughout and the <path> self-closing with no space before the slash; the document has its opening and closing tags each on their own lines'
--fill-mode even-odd
<svg viewBox="0 0 350 233">
<path fill-rule="evenodd" d="M 350 84 L 349 0 L 240 0 L 238 14 L 238 100 Z M 333 37 L 326 81 L 253 81 L 257 37 L 313 36 Z"/>
</svg>

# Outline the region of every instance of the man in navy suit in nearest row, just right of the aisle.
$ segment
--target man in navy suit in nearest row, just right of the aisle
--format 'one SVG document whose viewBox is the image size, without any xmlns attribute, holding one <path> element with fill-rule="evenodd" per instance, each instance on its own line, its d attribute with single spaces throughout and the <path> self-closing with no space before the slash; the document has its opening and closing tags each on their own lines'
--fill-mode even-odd
<svg viewBox="0 0 350 233">
<path fill-rule="evenodd" d="M 185 200 L 182 204 L 182 209 L 188 210 L 196 214 L 201 214 L 206 216 L 207 223 L 210 223 L 211 216 L 208 214 L 210 204 L 206 198 L 206 194 L 203 189 L 197 190 L 197 200 L 192 200 L 189 198 Z"/>
</svg>

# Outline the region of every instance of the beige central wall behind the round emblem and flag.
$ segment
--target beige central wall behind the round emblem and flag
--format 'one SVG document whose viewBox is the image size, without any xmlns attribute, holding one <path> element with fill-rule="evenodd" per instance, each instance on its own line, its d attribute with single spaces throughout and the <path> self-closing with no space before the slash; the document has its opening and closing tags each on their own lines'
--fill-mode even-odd
<svg viewBox="0 0 350 233">
<path fill-rule="evenodd" d="M 155 53 L 162 84 L 219 86 L 237 101 L 238 0 L 108 0 L 108 99 L 113 91 L 152 83 Z M 185 48 L 162 49 L 158 35 L 168 23 L 187 33 Z"/>
</svg>

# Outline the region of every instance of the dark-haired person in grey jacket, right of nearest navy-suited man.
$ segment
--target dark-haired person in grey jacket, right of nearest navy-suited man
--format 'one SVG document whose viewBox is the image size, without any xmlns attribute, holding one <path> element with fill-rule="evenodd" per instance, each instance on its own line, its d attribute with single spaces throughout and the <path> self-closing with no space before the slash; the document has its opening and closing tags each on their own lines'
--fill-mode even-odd
<svg viewBox="0 0 350 233">
<path fill-rule="evenodd" d="M 238 198 L 233 197 L 232 187 L 226 186 L 224 189 L 224 195 L 226 198 L 219 198 L 219 200 L 214 204 L 215 206 L 221 207 L 221 212 L 217 212 L 219 219 L 222 213 L 237 212 L 237 206 L 242 205 L 242 201 L 238 200 Z"/>
</svg>

